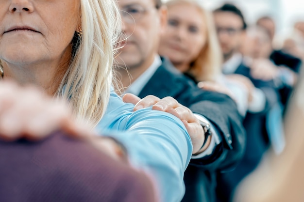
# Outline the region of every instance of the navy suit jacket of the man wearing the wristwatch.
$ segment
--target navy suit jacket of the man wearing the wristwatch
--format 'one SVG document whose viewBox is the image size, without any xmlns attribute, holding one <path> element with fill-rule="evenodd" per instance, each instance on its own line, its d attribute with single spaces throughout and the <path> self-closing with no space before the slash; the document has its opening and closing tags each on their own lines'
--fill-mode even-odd
<svg viewBox="0 0 304 202">
<path fill-rule="evenodd" d="M 232 170 L 244 152 L 245 133 L 241 116 L 229 96 L 199 89 L 168 60 L 162 59 L 162 62 L 139 97 L 149 94 L 160 98 L 172 96 L 216 126 L 223 140 L 220 151 L 212 159 L 191 160 L 185 172 L 186 195 L 183 199 L 187 202 L 213 202 L 216 173 Z"/>
</svg>

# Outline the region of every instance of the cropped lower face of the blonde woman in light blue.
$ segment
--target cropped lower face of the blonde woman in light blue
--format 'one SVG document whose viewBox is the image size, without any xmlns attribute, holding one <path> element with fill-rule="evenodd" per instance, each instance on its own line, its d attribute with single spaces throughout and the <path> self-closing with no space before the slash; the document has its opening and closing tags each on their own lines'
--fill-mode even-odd
<svg viewBox="0 0 304 202">
<path fill-rule="evenodd" d="M 79 0 L 0 0 L 0 59 L 65 62 L 79 16 Z"/>
</svg>

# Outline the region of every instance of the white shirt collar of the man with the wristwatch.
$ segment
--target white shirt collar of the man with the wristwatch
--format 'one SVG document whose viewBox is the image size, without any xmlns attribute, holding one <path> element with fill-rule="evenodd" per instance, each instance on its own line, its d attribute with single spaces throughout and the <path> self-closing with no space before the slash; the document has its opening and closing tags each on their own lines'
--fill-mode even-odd
<svg viewBox="0 0 304 202">
<path fill-rule="evenodd" d="M 152 65 L 142 73 L 125 91 L 125 93 L 132 93 L 139 95 L 144 86 L 148 83 L 150 78 L 154 75 L 158 67 L 162 64 L 162 60 L 159 55 L 156 55 Z"/>
</svg>

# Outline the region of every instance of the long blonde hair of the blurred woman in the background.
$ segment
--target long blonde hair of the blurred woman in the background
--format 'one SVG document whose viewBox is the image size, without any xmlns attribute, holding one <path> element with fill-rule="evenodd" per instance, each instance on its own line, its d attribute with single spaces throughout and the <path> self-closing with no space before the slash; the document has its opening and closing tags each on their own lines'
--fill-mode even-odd
<svg viewBox="0 0 304 202">
<path fill-rule="evenodd" d="M 191 62 L 188 72 L 197 81 L 216 80 L 221 72 L 222 56 L 211 12 L 204 9 L 198 0 L 169 0 L 166 3 L 169 10 L 170 6 L 177 4 L 188 4 L 197 7 L 203 15 L 202 20 L 206 25 L 207 31 L 206 44 L 197 59 Z"/>
</svg>

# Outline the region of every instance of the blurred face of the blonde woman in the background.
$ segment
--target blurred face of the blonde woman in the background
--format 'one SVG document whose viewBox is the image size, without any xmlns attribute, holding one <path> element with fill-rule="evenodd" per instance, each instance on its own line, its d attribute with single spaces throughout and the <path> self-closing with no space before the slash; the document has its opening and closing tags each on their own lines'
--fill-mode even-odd
<svg viewBox="0 0 304 202">
<path fill-rule="evenodd" d="M 194 5 L 170 6 L 168 27 L 161 36 L 159 54 L 168 57 L 173 64 L 187 64 L 188 67 L 206 44 L 207 32 L 203 17 Z M 180 69 L 182 72 L 187 70 Z"/>
</svg>

